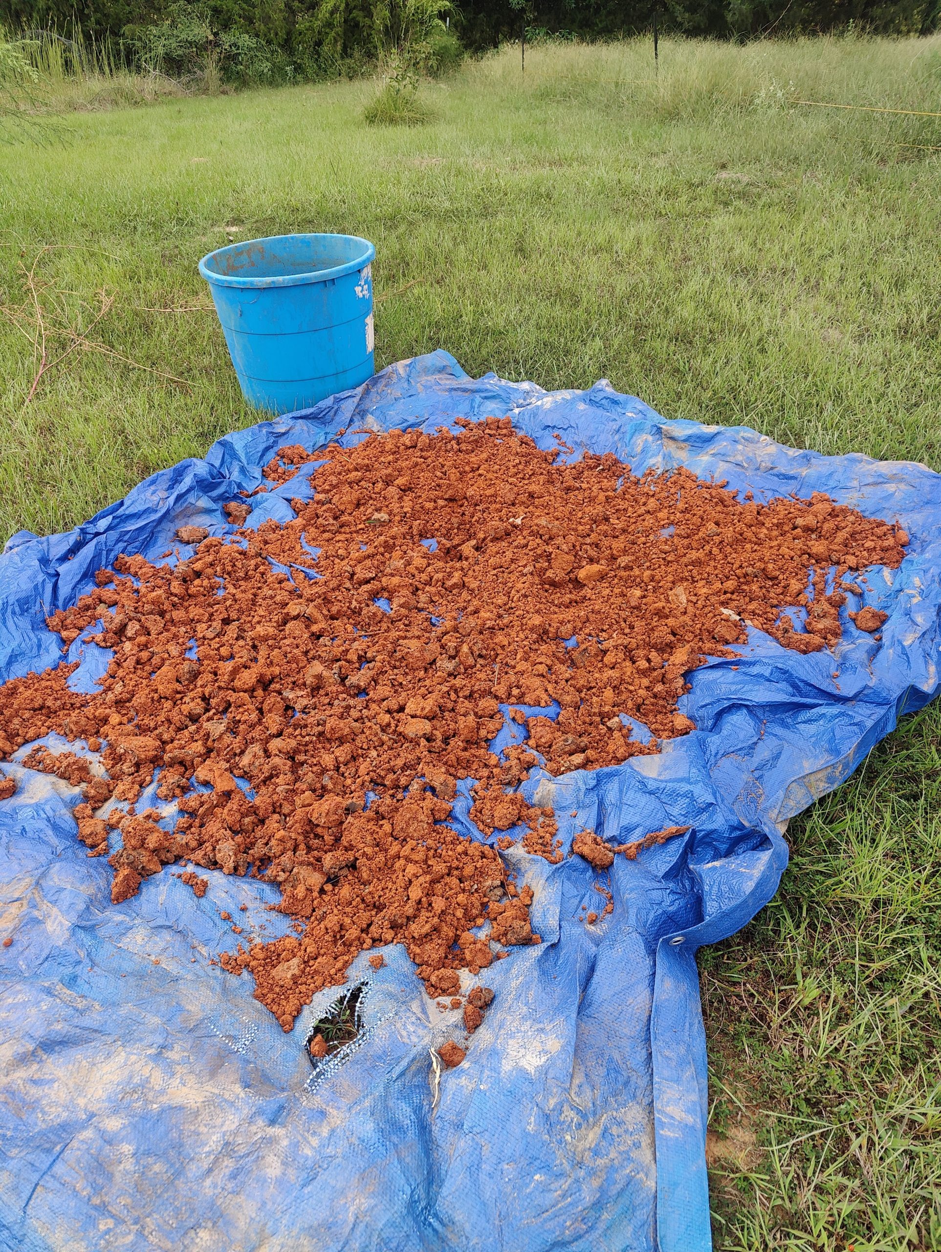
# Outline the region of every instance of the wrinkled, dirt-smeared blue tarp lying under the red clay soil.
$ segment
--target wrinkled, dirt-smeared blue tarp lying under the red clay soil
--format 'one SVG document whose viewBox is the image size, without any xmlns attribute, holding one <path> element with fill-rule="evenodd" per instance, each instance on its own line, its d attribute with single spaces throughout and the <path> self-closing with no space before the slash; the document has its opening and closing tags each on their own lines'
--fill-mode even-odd
<svg viewBox="0 0 941 1252">
<path fill-rule="evenodd" d="M 0 803 L 0 934 L 14 940 L 0 948 L 4 1248 L 710 1247 L 696 949 L 771 899 L 788 818 L 936 691 L 941 476 L 798 452 L 743 427 L 668 422 L 606 382 L 546 393 L 472 379 L 437 352 L 226 436 L 68 535 L 14 536 L 0 558 L 0 677 L 60 660 L 44 615 L 71 605 L 118 553 L 155 558 L 181 523 L 229 533 L 223 503 L 258 486 L 283 444 L 507 413 L 541 447 L 558 432 L 574 454 L 611 451 L 637 473 L 686 466 L 756 500 L 825 491 L 898 521 L 906 558 L 870 571 L 865 592 L 890 613 L 881 644 L 846 620 L 835 664 L 752 631 L 736 670 L 713 660 L 692 675 L 681 707 L 693 734 L 657 756 L 526 784 L 553 804 L 567 840 L 583 826 L 612 843 L 667 825 L 692 831 L 636 861 L 617 858 L 614 911 L 592 928 L 578 915 L 603 900 L 584 861 L 507 854 L 536 889 L 543 943 L 488 970 L 497 998 L 437 1104 L 429 1049 L 455 1034 L 454 1020 L 402 948 L 387 949 L 379 972 L 357 959 L 363 1029 L 314 1072 L 304 1040 L 337 990 L 284 1034 L 247 978 L 208 963 L 231 945 L 220 910 L 247 904 L 248 928 L 270 926 L 274 889 L 216 873 L 196 899 L 164 873 L 113 905 L 109 866 L 75 838 L 78 794 L 6 765 L 20 790 Z M 255 497 L 249 525 L 293 516 L 288 498 L 304 490 L 294 480 Z M 99 650 L 76 640 L 70 655 L 84 657 L 75 681 L 93 682 Z"/>
</svg>

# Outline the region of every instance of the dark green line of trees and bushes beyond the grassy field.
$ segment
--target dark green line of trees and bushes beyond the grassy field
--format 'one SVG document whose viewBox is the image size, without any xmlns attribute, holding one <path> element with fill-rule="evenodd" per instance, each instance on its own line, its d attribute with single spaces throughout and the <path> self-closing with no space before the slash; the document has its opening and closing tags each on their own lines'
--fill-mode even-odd
<svg viewBox="0 0 941 1252">
<path fill-rule="evenodd" d="M 843 30 L 927 35 L 941 0 L 0 0 L 0 25 L 65 46 L 78 36 L 174 76 L 247 80 L 355 73 L 389 31 L 430 29 L 429 69 L 507 40 L 603 40 L 649 33 L 755 39 Z"/>
</svg>

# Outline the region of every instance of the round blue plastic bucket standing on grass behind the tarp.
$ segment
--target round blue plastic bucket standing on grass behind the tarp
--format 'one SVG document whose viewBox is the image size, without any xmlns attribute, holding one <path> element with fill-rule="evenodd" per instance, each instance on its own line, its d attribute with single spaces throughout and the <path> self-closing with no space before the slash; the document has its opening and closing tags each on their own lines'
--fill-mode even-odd
<svg viewBox="0 0 941 1252">
<path fill-rule="evenodd" d="M 373 376 L 373 257 L 368 239 L 310 234 L 200 260 L 249 404 L 290 413 Z"/>
</svg>

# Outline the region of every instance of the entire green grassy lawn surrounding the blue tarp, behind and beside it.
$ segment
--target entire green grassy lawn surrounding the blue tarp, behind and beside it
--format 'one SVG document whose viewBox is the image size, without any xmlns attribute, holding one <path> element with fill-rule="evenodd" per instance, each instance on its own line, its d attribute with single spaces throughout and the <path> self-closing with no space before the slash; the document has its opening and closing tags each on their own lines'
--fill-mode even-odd
<svg viewBox="0 0 941 1252">
<path fill-rule="evenodd" d="M 941 468 L 941 39 L 518 49 L 373 129 L 365 81 L 73 111 L 0 145 L 0 540 L 257 414 L 196 272 L 375 243 L 378 366 L 607 377 L 668 417 Z M 45 369 L 40 373 L 44 361 Z M 173 377 L 168 377 L 173 376 Z M 29 398 L 29 402 L 26 402 Z M 941 1248 L 941 717 L 793 821 L 701 954 L 721 1249 Z"/>
</svg>

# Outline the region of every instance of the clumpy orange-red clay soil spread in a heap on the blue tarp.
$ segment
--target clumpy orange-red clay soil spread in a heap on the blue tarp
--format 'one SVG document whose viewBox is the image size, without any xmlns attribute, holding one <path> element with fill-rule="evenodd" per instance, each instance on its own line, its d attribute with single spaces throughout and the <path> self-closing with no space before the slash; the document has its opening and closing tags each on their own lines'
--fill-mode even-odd
<svg viewBox="0 0 941 1252">
<path fill-rule="evenodd" d="M 538 940 L 532 893 L 498 850 L 445 824 L 458 780 L 478 780 L 487 835 L 522 824 L 529 851 L 561 859 L 552 810 L 508 790 L 536 752 L 557 775 L 658 751 L 692 729 L 677 710 L 691 670 L 735 655 L 747 623 L 801 652 L 835 644 L 845 596 L 826 595 L 830 567 L 837 580 L 896 567 L 907 542 L 821 495 L 757 505 L 682 470 L 636 478 L 611 454 L 557 458 L 509 418 L 284 449 L 270 482 L 327 461 L 295 521 L 226 540 L 186 527 L 194 556 L 119 557 L 49 618 L 65 647 L 101 621 L 93 639 L 114 659 L 99 692 L 70 691 L 65 662 L 0 687 L 4 757 L 50 731 L 103 749 L 105 777 L 71 752 L 35 749 L 26 764 L 83 789 L 90 855 L 120 829 L 115 901 L 173 861 L 278 884 L 298 933 L 223 964 L 250 970 L 285 1029 L 363 949 L 404 943 L 429 994 L 447 997 L 458 969 L 498 954 L 474 934 L 484 921 L 497 945 Z M 226 515 L 242 523 L 249 507 Z M 788 605 L 807 610 L 806 630 Z M 875 629 L 871 610 L 856 621 Z M 553 700 L 556 720 L 517 709 L 526 742 L 489 751 L 501 704 Z M 631 741 L 622 712 L 654 741 Z M 155 771 L 158 795 L 179 800 L 173 833 L 134 809 Z M 98 816 L 109 798 L 130 809 Z"/>
</svg>

